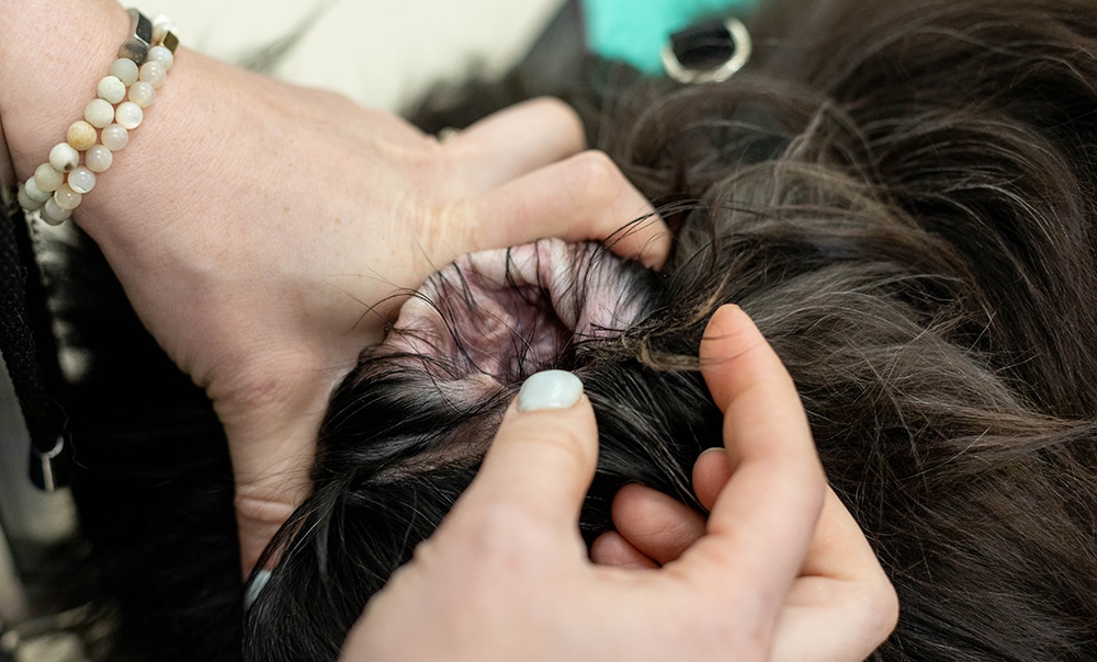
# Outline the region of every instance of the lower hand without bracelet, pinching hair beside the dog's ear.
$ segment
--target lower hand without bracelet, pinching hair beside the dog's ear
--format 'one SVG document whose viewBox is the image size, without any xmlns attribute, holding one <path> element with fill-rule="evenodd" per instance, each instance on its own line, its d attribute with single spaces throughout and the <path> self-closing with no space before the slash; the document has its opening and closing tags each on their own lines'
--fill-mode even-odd
<svg viewBox="0 0 1097 662">
<path fill-rule="evenodd" d="M 590 562 L 577 518 L 593 413 L 574 377 L 539 375 L 562 408 L 511 407 L 480 473 L 369 603 L 343 660 L 868 655 L 894 627 L 895 593 L 828 495 L 791 378 L 734 307 L 713 317 L 701 352 L 726 452 L 698 466 L 704 532 L 689 532 L 694 520 L 677 544 L 640 541 L 632 560 L 646 568 Z"/>
</svg>

